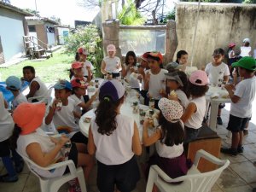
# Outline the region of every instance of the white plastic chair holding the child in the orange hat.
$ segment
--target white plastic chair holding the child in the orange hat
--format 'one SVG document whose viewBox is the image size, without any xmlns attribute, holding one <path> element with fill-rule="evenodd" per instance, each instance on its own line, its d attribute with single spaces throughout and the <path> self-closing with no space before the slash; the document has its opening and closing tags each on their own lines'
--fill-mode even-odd
<svg viewBox="0 0 256 192">
<path fill-rule="evenodd" d="M 28 166 L 30 171 L 36 177 L 39 178 L 41 192 L 57 192 L 60 189 L 62 184 L 67 183 L 68 181 L 70 181 L 76 177 L 79 178 L 79 184 L 80 184 L 81 191 L 87 192 L 87 189 L 85 186 L 83 169 L 82 169 L 82 167 L 76 168 L 73 164 L 73 160 L 66 160 L 66 161 L 62 161 L 60 163 L 55 163 L 55 164 L 47 166 L 47 167 L 42 167 L 42 166 L 38 166 L 37 164 L 35 164 L 32 160 L 30 160 L 26 156 L 21 155 L 21 154 L 20 154 L 20 156 L 23 158 L 23 160 L 25 160 L 26 165 Z M 52 169 L 55 169 L 55 168 L 58 168 L 61 166 L 68 166 L 70 172 L 61 177 L 45 178 L 45 177 L 39 176 L 37 172 L 34 172 L 31 169 L 31 165 L 37 166 L 38 168 L 43 169 L 43 170 L 52 170 Z"/>
</svg>

